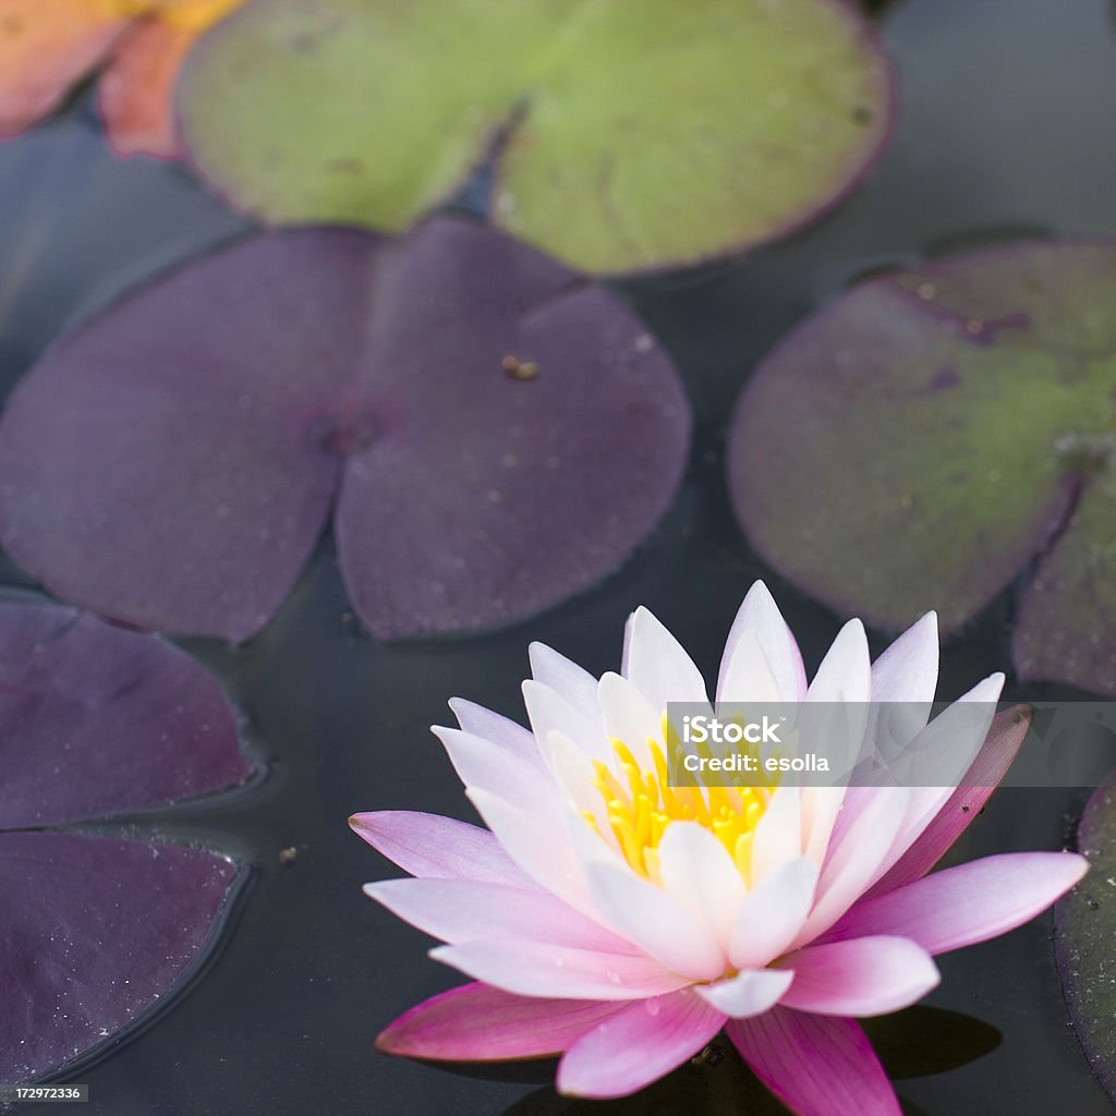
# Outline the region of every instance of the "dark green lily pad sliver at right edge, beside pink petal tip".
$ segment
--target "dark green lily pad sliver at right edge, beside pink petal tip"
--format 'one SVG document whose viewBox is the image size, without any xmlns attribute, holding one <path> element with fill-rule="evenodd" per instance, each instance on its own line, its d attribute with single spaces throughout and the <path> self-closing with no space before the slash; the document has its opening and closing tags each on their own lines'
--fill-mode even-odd
<svg viewBox="0 0 1116 1116">
<path fill-rule="evenodd" d="M 1077 1037 L 1116 1104 L 1116 775 L 1089 799 L 1077 847 L 1093 870 L 1055 907 L 1058 970 Z"/>
</svg>

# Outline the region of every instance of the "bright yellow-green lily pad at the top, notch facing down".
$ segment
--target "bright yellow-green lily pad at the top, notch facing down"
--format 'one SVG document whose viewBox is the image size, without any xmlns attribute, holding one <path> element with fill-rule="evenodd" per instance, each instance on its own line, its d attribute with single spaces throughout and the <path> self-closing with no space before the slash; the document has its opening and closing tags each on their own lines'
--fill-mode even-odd
<svg viewBox="0 0 1116 1116">
<path fill-rule="evenodd" d="M 400 230 L 492 156 L 498 225 L 620 272 L 833 204 L 891 86 L 836 0 L 261 0 L 199 44 L 179 104 L 195 165 L 267 220 Z"/>
</svg>

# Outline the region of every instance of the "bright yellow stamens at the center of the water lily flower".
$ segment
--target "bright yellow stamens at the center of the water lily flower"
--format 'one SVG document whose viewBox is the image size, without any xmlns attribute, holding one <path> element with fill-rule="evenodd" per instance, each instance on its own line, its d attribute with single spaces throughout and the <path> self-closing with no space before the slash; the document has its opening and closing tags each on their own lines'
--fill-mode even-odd
<svg viewBox="0 0 1116 1116">
<path fill-rule="evenodd" d="M 663 739 L 681 769 L 684 753 L 665 714 Z M 775 787 L 711 787 L 701 775 L 695 775 L 699 783 L 695 787 L 672 787 L 666 757 L 657 740 L 647 739 L 653 763 L 651 771 L 639 767 L 622 740 L 613 740 L 612 745 L 617 760 L 616 773 L 595 760 L 594 785 L 604 800 L 613 836 L 632 868 L 645 879 L 658 883 L 657 849 L 667 827 L 672 821 L 696 821 L 721 841 L 744 882 L 751 886 L 752 840 Z M 584 810 L 583 816 L 600 831 L 593 810 Z"/>
</svg>

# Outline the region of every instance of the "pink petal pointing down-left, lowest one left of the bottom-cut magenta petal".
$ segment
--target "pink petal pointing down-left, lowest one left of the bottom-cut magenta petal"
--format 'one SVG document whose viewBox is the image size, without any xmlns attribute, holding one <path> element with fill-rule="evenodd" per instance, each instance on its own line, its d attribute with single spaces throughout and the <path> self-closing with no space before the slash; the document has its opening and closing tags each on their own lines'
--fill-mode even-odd
<svg viewBox="0 0 1116 1116">
<path fill-rule="evenodd" d="M 598 1023 L 566 1051 L 558 1091 L 623 1097 L 698 1054 L 724 1016 L 690 990 L 633 1003 Z"/>
</svg>

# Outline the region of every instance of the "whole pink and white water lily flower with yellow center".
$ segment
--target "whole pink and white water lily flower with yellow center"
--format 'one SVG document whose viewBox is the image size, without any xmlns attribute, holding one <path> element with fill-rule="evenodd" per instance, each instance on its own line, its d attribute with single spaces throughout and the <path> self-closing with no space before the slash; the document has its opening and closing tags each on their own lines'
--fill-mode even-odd
<svg viewBox="0 0 1116 1116">
<path fill-rule="evenodd" d="M 850 620 L 807 684 L 757 583 L 715 700 L 904 702 L 929 716 L 937 658 L 933 614 L 875 663 Z M 464 701 L 451 702 L 460 728 L 434 730 L 488 829 L 407 811 L 350 819 L 414 877 L 366 892 L 442 940 L 431 955 L 474 981 L 407 1011 L 382 1050 L 561 1055 L 559 1090 L 604 1098 L 723 1028 L 800 1116 L 898 1116 L 855 1018 L 914 1003 L 939 981 L 935 954 L 1020 925 L 1086 869 L 1071 854 L 1024 853 L 931 872 L 1018 750 L 1018 714 L 981 729 L 960 788 L 687 792 L 668 785 L 664 710 L 706 701 L 705 683 L 650 612 L 628 622 L 619 674 L 598 681 L 539 644 L 530 660 L 530 731 Z M 962 700 L 991 718 L 1002 684 L 992 675 Z"/>
</svg>

